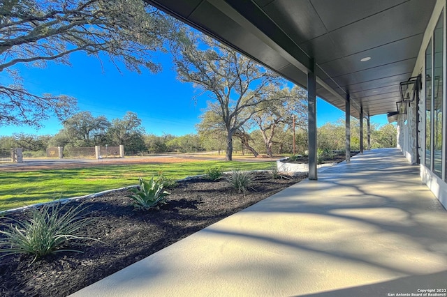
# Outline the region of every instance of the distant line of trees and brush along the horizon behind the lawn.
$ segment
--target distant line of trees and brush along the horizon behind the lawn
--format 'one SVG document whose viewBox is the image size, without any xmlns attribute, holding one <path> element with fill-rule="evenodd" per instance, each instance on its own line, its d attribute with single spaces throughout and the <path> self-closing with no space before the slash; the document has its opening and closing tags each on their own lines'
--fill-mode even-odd
<svg viewBox="0 0 447 297">
<path fill-rule="evenodd" d="M 212 125 L 212 113 L 203 114 L 197 125 L 198 132 L 175 136 L 170 134 L 154 135 L 145 132 L 141 120 L 133 112 L 127 112 L 122 119 L 108 121 L 105 116 L 92 116 L 90 112 L 79 112 L 64 121 L 64 126 L 56 135 L 29 135 L 15 133 L 0 137 L 0 148 L 21 147 L 25 157 L 45 155 L 47 147 L 64 146 L 118 146 L 124 145 L 126 155 L 145 155 L 152 153 L 194 153 L 214 151 L 226 153 L 227 139 L 224 130 L 219 129 L 219 121 Z M 290 114 L 282 121 L 277 113 L 272 116 L 266 112 L 254 117 L 233 135 L 233 151 L 249 155 L 287 155 L 293 153 L 293 125 Z M 262 119 L 262 121 L 261 121 Z M 299 118 L 298 118 L 299 119 Z M 296 119 L 295 119 L 296 121 Z M 260 123 L 263 125 L 260 125 Z M 269 123 L 269 124 L 266 124 Z M 210 128 L 211 127 L 211 128 Z M 318 128 L 318 148 L 322 150 L 343 151 L 344 121 L 326 123 Z M 366 130 L 363 139 L 366 148 Z M 371 147 L 388 148 L 396 146 L 396 127 L 393 124 L 371 125 Z M 351 149 L 360 148 L 360 129 L 358 121 L 351 121 Z M 302 123 L 295 123 L 295 153 L 307 151 L 307 130 Z"/>
</svg>

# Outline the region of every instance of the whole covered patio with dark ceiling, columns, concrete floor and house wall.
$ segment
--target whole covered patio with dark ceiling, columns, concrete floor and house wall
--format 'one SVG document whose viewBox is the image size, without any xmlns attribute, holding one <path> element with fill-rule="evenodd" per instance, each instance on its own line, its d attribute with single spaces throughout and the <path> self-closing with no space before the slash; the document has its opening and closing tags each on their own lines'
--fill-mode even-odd
<svg viewBox="0 0 447 297">
<path fill-rule="evenodd" d="M 145 1 L 307 89 L 309 180 L 73 296 L 447 294 L 445 0 Z M 346 112 L 346 162 L 323 172 L 316 96 Z M 351 116 L 362 139 L 376 114 L 400 148 L 349 160 Z"/>
</svg>

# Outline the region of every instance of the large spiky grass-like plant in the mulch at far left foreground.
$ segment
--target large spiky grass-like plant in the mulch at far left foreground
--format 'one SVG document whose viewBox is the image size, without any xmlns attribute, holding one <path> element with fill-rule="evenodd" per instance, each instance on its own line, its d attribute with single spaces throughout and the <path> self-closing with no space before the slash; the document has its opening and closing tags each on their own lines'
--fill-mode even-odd
<svg viewBox="0 0 447 297">
<path fill-rule="evenodd" d="M 0 238 L 0 252 L 8 254 L 31 254 L 36 261 L 38 257 L 54 252 L 81 252 L 80 250 L 66 249 L 67 241 L 94 238 L 82 235 L 82 229 L 94 221 L 94 218 L 84 218 L 80 215 L 86 208 L 80 204 L 64 212 L 64 206 L 45 204 L 40 209 L 31 207 L 31 219 L 18 221 L 13 219 L 12 224 L 0 224 L 3 238 Z M 5 219 L 5 218 L 3 218 Z"/>
</svg>

